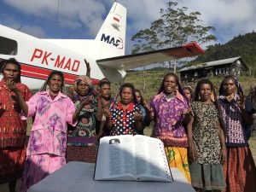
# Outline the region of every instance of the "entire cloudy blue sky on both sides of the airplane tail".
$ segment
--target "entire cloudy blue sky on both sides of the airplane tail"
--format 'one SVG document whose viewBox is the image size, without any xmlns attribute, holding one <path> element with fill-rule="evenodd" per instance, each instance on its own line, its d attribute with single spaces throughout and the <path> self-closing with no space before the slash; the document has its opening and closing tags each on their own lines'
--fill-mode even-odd
<svg viewBox="0 0 256 192">
<path fill-rule="evenodd" d="M 166 0 L 118 0 L 127 8 L 125 53 L 131 53 L 131 37 L 160 18 Z M 113 0 L 0 0 L 0 24 L 37 38 L 96 37 Z M 177 0 L 189 12 L 201 13 L 201 25 L 214 26 L 217 42 L 224 44 L 256 31 L 255 0 Z"/>
</svg>

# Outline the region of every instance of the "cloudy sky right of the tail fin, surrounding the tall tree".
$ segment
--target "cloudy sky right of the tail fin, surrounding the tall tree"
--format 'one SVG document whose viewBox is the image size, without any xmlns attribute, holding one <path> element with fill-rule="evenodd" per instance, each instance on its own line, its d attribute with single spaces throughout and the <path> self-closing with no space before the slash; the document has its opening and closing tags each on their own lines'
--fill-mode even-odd
<svg viewBox="0 0 256 192">
<path fill-rule="evenodd" d="M 131 24 L 128 29 L 130 37 L 150 26 L 150 23 L 160 18 L 160 8 L 166 7 L 168 1 L 140 1 L 138 6 L 137 1 L 121 1 L 128 8 L 128 16 Z M 254 0 L 178 0 L 179 7 L 187 7 L 189 12 L 201 12 L 200 23 L 202 26 L 214 26 L 215 31 L 212 32 L 218 38 L 218 43 L 224 44 L 239 34 L 252 32 L 256 30 L 256 2 Z M 142 9 L 143 8 L 143 9 Z M 128 28 L 128 27 L 127 27 Z M 127 39 L 128 40 L 128 39 Z M 201 44 L 205 49 L 207 44 Z M 132 42 L 127 42 L 131 49 Z"/>
</svg>

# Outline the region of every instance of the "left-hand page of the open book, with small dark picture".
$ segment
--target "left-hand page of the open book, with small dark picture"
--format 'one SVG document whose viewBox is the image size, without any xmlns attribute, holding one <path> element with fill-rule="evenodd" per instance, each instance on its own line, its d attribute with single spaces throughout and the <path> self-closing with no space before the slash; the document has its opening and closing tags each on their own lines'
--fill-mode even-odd
<svg viewBox="0 0 256 192">
<path fill-rule="evenodd" d="M 102 137 L 96 161 L 96 180 L 134 180 L 132 136 Z"/>
</svg>

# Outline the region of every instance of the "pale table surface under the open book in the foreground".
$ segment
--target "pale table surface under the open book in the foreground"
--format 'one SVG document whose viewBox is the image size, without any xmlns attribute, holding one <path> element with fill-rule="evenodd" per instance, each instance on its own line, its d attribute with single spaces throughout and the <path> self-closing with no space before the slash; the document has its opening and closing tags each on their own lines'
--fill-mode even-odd
<svg viewBox="0 0 256 192">
<path fill-rule="evenodd" d="M 94 169 L 95 164 L 69 162 L 28 192 L 195 192 L 177 168 L 172 168 L 172 183 L 95 181 Z"/>
</svg>

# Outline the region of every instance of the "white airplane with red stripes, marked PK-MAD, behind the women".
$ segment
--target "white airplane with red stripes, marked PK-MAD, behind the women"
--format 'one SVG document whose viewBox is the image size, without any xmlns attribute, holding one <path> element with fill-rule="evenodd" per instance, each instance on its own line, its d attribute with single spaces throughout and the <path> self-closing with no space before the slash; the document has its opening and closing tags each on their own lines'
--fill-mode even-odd
<svg viewBox="0 0 256 192">
<path fill-rule="evenodd" d="M 125 70 L 162 61 L 204 54 L 197 44 L 125 55 L 126 9 L 113 7 L 95 39 L 40 39 L 0 25 L 0 60 L 14 57 L 21 63 L 21 82 L 38 89 L 51 70 L 64 73 L 67 84 L 86 74 L 84 59 L 90 63 L 90 78 L 97 84 L 108 78 L 117 82 Z"/>
</svg>

